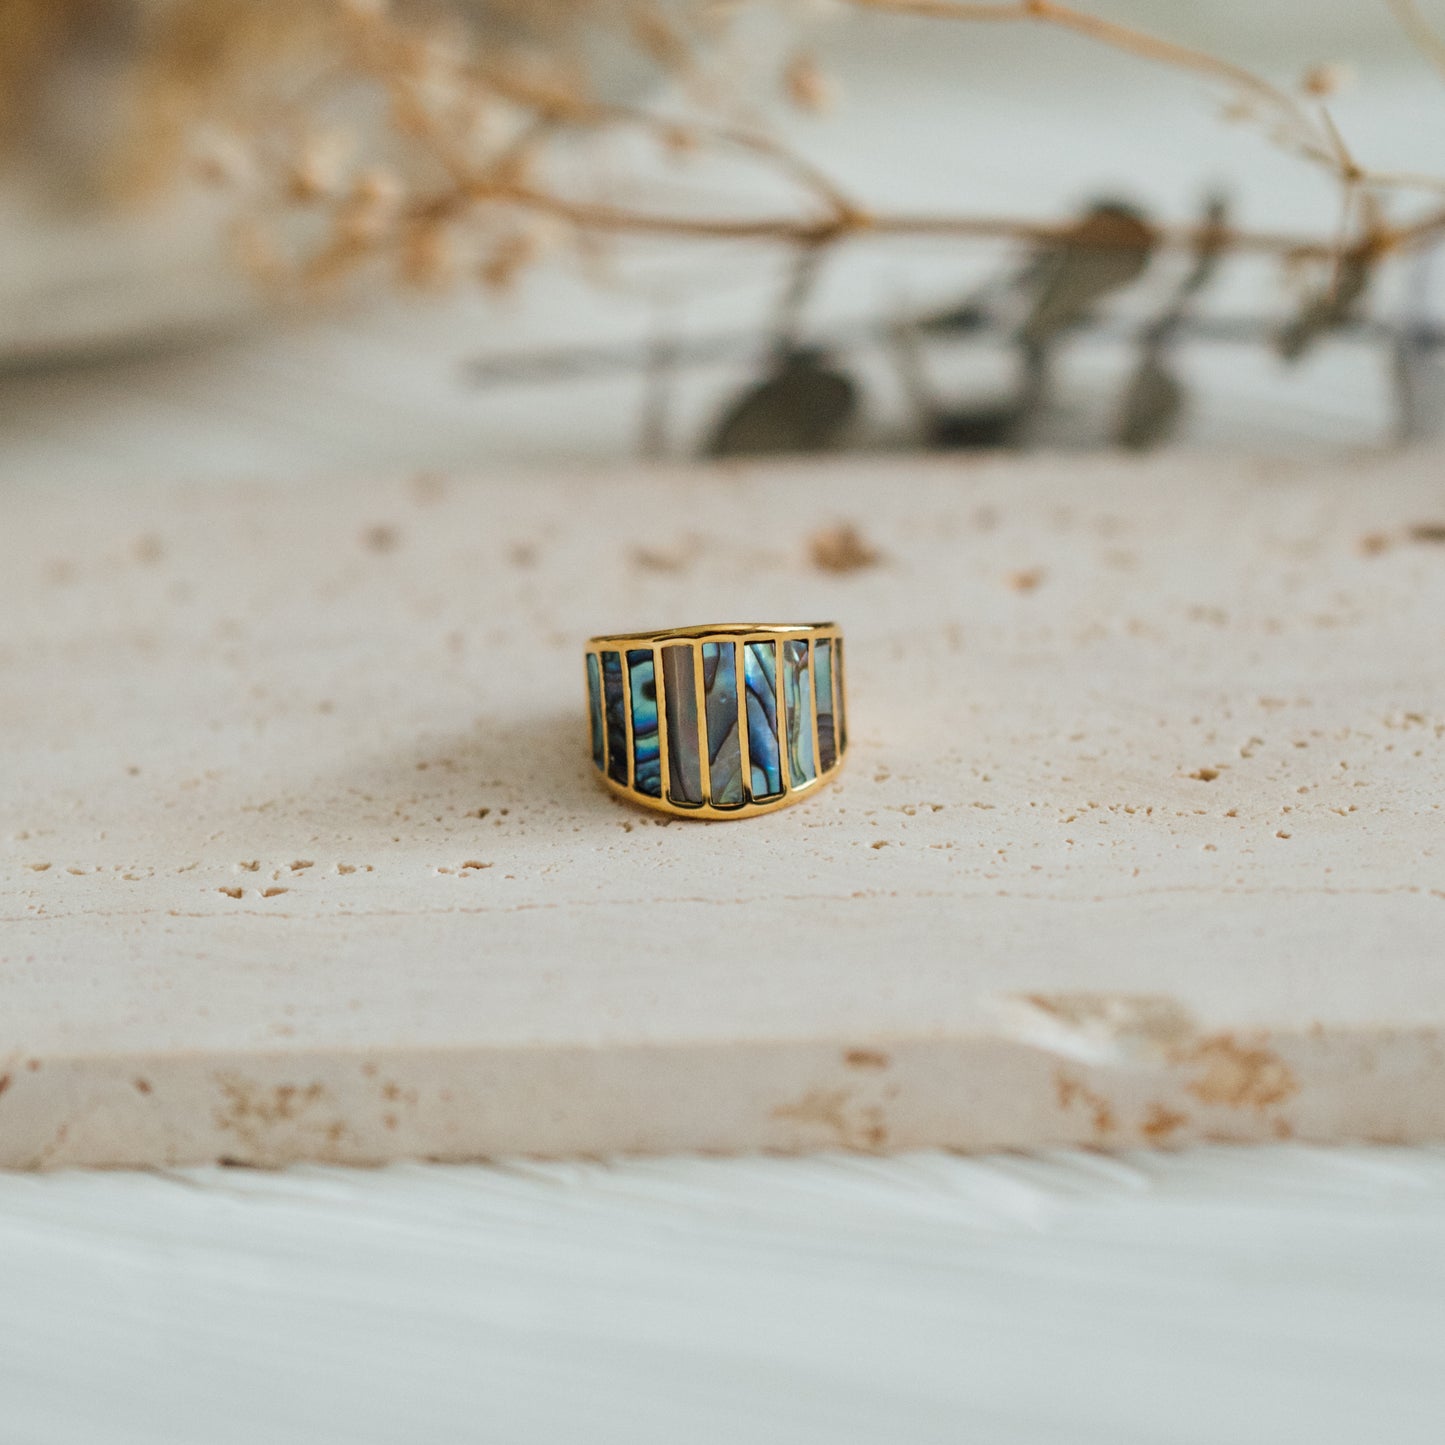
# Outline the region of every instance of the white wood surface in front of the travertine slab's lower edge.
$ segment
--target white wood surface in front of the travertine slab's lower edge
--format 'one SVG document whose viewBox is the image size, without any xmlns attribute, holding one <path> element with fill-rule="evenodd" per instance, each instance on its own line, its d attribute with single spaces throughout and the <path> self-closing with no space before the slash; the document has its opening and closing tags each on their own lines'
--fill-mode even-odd
<svg viewBox="0 0 1445 1445">
<path fill-rule="evenodd" d="M 17 1445 L 1436 1445 L 1445 1155 L 0 1173 Z"/>
</svg>

